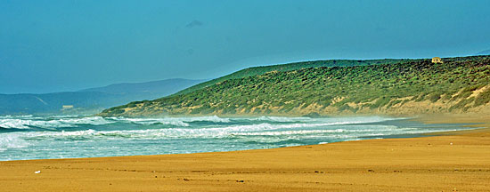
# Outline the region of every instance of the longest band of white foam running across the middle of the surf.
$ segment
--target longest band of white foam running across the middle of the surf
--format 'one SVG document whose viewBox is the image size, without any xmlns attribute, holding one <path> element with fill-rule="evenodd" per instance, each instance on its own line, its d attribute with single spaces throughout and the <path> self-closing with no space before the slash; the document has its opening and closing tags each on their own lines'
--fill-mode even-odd
<svg viewBox="0 0 490 192">
<path fill-rule="evenodd" d="M 330 123 L 331 124 L 331 123 Z M 315 133 L 345 133 L 348 137 L 357 135 L 369 135 L 368 132 L 390 132 L 396 126 L 384 126 L 379 129 L 370 129 L 370 126 L 363 129 L 324 129 L 323 127 L 313 130 L 295 130 L 294 128 L 304 128 L 308 124 L 252 124 L 252 125 L 233 125 L 225 127 L 211 128 L 165 128 L 165 129 L 145 129 L 145 130 L 123 130 L 123 131 L 94 131 L 92 129 L 76 132 L 29 132 L 29 137 L 33 140 L 98 140 L 98 139 L 117 139 L 132 138 L 135 140 L 164 140 L 164 139 L 212 139 L 226 138 L 234 136 L 282 136 L 298 135 L 299 137 L 311 137 Z M 323 124 L 322 124 L 323 125 Z M 314 124 L 313 127 L 317 127 Z M 291 130 L 288 130 L 291 129 Z M 280 130 L 280 131 L 274 131 Z M 360 133 L 354 133 L 360 132 Z M 313 135 L 314 136 L 314 135 Z M 324 137 L 324 135 L 318 135 Z M 339 134 L 332 135 L 339 138 Z"/>
</svg>

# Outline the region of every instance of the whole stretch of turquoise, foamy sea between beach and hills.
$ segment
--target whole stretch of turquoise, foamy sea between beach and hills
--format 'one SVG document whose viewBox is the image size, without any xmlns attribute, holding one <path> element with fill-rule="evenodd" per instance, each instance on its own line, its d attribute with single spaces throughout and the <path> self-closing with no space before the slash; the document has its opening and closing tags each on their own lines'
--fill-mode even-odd
<svg viewBox="0 0 490 192">
<path fill-rule="evenodd" d="M 463 129 L 381 116 L 0 116 L 0 161 L 282 148 Z"/>
</svg>

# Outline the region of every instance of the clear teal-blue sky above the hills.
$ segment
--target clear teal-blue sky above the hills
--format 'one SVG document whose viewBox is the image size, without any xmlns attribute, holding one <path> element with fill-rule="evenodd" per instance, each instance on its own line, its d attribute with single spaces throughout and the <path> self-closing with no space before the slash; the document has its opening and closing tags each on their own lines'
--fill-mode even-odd
<svg viewBox="0 0 490 192">
<path fill-rule="evenodd" d="M 490 1 L 2 0 L 0 93 L 490 49 Z"/>
</svg>

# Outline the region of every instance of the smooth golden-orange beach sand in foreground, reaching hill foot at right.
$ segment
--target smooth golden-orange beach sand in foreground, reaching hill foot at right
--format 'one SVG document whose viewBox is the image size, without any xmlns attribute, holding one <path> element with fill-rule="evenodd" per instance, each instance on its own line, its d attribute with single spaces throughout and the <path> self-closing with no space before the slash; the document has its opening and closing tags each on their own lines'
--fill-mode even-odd
<svg viewBox="0 0 490 192">
<path fill-rule="evenodd" d="M 480 115 L 421 119 L 490 122 Z M 324 190 L 490 191 L 490 130 L 223 153 L 0 162 L 0 191 Z"/>
</svg>

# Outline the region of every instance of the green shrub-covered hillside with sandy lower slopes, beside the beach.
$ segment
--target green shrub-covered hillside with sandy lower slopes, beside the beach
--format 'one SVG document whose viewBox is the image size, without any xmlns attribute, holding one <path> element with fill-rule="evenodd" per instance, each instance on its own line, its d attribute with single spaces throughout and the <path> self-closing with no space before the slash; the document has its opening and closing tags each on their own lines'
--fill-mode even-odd
<svg viewBox="0 0 490 192">
<path fill-rule="evenodd" d="M 131 102 L 100 115 L 412 115 L 485 108 L 490 101 L 490 56 L 443 61 L 274 70 Z"/>
</svg>

